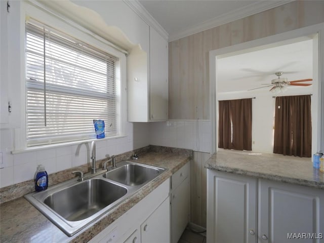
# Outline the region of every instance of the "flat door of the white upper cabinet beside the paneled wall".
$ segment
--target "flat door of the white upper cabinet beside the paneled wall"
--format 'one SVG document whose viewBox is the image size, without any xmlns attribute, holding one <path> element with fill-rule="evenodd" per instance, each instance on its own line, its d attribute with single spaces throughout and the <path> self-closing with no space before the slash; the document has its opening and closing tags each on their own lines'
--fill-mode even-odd
<svg viewBox="0 0 324 243">
<path fill-rule="evenodd" d="M 150 120 L 168 119 L 168 43 L 150 28 Z"/>
</svg>

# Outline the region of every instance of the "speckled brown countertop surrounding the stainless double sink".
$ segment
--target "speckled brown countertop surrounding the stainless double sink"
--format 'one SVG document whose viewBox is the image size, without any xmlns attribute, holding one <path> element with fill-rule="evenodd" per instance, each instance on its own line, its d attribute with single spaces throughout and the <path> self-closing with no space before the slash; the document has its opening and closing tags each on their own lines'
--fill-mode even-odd
<svg viewBox="0 0 324 243">
<path fill-rule="evenodd" d="M 139 157 L 138 160 L 129 161 L 165 168 L 167 171 L 80 232 L 68 237 L 24 197 L 19 197 L 1 204 L 0 241 L 87 242 L 185 165 L 192 158 L 192 151 L 191 153 L 150 151 Z"/>
</svg>

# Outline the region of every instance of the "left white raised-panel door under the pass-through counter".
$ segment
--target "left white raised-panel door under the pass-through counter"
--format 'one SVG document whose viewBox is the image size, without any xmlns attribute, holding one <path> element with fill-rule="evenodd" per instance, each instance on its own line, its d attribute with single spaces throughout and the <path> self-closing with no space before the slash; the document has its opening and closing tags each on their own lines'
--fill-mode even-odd
<svg viewBox="0 0 324 243">
<path fill-rule="evenodd" d="M 257 179 L 207 170 L 207 242 L 257 242 Z"/>
</svg>

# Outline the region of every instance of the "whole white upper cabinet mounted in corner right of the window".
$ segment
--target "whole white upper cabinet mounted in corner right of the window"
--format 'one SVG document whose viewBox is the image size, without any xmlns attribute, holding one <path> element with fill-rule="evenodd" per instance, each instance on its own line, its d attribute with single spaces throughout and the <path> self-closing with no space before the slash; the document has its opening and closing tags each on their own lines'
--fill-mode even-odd
<svg viewBox="0 0 324 243">
<path fill-rule="evenodd" d="M 128 56 L 128 121 L 168 119 L 168 42 L 152 27 L 149 41 L 149 53 L 134 48 Z"/>
</svg>

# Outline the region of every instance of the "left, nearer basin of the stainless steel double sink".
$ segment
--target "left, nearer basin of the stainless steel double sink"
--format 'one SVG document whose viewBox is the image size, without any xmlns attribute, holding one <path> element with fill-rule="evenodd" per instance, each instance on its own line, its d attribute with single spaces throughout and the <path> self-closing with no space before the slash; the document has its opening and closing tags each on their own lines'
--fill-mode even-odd
<svg viewBox="0 0 324 243">
<path fill-rule="evenodd" d="M 108 181 L 90 179 L 44 199 L 44 203 L 68 221 L 89 218 L 124 196 L 127 189 Z"/>
</svg>

